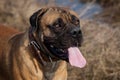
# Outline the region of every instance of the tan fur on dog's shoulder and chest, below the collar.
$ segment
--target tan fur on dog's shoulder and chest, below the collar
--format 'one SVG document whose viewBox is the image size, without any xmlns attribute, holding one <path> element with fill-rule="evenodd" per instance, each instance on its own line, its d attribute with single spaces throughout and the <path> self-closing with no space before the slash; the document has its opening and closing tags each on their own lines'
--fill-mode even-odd
<svg viewBox="0 0 120 80">
<path fill-rule="evenodd" d="M 27 36 L 27 33 L 14 36 L 7 53 L 0 53 L 0 80 L 45 80 L 45 71 L 48 72 L 48 80 L 66 80 L 66 62 L 56 62 L 52 68 L 49 67 L 51 63 L 41 66 L 29 51 Z"/>
</svg>

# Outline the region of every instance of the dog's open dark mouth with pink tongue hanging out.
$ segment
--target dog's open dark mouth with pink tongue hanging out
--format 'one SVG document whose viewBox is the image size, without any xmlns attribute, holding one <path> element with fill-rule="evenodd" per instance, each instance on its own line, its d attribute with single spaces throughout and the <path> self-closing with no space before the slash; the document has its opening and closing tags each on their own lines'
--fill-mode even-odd
<svg viewBox="0 0 120 80">
<path fill-rule="evenodd" d="M 69 62 L 72 66 L 83 68 L 86 65 L 86 60 L 82 56 L 77 46 L 67 48 L 57 48 L 54 45 L 44 42 L 47 49 L 57 58 Z"/>
</svg>

